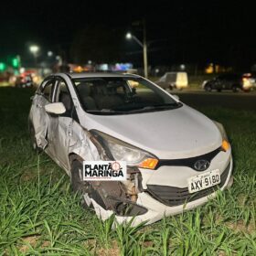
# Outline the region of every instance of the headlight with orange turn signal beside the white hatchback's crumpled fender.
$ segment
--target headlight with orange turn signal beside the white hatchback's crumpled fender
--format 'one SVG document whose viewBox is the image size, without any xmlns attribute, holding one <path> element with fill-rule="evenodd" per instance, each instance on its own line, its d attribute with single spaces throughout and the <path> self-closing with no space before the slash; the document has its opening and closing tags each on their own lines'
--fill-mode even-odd
<svg viewBox="0 0 256 256">
<path fill-rule="evenodd" d="M 158 159 L 142 149 L 126 144 L 110 135 L 92 130 L 91 133 L 112 160 L 125 161 L 128 166 L 155 169 Z"/>
</svg>

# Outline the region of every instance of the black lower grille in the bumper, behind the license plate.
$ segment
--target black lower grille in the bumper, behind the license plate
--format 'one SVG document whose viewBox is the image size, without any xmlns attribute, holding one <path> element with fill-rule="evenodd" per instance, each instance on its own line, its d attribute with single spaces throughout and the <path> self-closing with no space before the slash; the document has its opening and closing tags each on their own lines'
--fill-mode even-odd
<svg viewBox="0 0 256 256">
<path fill-rule="evenodd" d="M 148 192 L 152 197 L 155 197 L 155 199 L 159 200 L 167 206 L 180 206 L 185 203 L 195 201 L 201 197 L 207 197 L 214 191 L 218 190 L 219 187 L 223 187 L 227 180 L 227 177 L 229 176 L 229 167 L 230 163 L 220 176 L 220 184 L 214 187 L 208 187 L 194 194 L 189 194 L 187 187 L 180 188 L 158 185 L 148 185 L 146 192 Z"/>
</svg>

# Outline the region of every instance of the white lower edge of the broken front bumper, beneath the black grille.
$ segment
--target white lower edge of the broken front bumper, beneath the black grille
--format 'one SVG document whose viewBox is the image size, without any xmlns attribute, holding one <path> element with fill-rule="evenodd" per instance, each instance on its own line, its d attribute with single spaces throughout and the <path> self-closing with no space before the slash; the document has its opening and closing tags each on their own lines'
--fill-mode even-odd
<svg viewBox="0 0 256 256">
<path fill-rule="evenodd" d="M 232 183 L 232 169 L 233 169 L 233 160 L 230 157 L 230 162 L 228 167 L 222 172 L 221 177 L 223 177 L 225 180 L 223 180 L 219 186 L 220 190 L 224 190 L 226 187 L 230 187 Z M 148 211 L 144 213 L 144 215 L 136 216 L 136 217 L 121 217 L 116 216 L 115 219 L 119 223 L 127 222 L 133 219 L 133 226 L 146 221 L 146 224 L 154 223 L 157 220 L 163 219 L 164 217 L 168 217 L 171 215 L 176 215 L 178 213 L 182 213 L 184 211 L 187 211 L 192 208 L 197 208 L 198 206 L 201 206 L 205 204 L 209 198 L 216 197 L 218 193 L 217 187 L 211 187 L 213 190 L 205 189 L 208 192 L 205 192 L 204 190 L 201 190 L 203 193 L 202 197 L 194 197 L 191 201 L 185 199 L 182 197 L 182 204 L 180 205 L 172 205 L 168 206 L 166 205 L 166 202 L 163 202 L 163 199 L 159 199 L 159 197 L 155 197 L 150 195 L 147 191 L 138 194 L 137 204 L 140 206 L 143 206 L 144 208 L 147 208 Z M 202 194 L 200 194 L 202 195 Z M 94 200 L 91 200 L 93 207 L 95 209 L 95 212 L 99 218 L 102 220 L 109 219 L 113 212 L 112 210 L 105 210 L 101 208 Z M 180 202 L 179 202 L 180 203 Z"/>
</svg>

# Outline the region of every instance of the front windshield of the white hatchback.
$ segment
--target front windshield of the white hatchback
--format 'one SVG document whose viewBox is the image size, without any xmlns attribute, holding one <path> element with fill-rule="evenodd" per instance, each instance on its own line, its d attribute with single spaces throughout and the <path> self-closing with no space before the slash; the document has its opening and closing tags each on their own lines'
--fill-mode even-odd
<svg viewBox="0 0 256 256">
<path fill-rule="evenodd" d="M 181 106 L 143 78 L 82 78 L 73 83 L 83 109 L 94 114 L 155 112 Z"/>
</svg>

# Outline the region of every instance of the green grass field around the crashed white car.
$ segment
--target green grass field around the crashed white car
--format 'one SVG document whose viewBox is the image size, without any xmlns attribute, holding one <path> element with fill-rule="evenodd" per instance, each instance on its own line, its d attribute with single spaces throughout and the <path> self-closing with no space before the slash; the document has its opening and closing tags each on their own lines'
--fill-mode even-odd
<svg viewBox="0 0 256 256">
<path fill-rule="evenodd" d="M 69 177 L 30 148 L 32 91 L 0 89 L 0 255 L 256 255 L 256 112 L 205 109 L 223 123 L 234 185 L 208 204 L 146 227 L 80 208 Z"/>
</svg>

